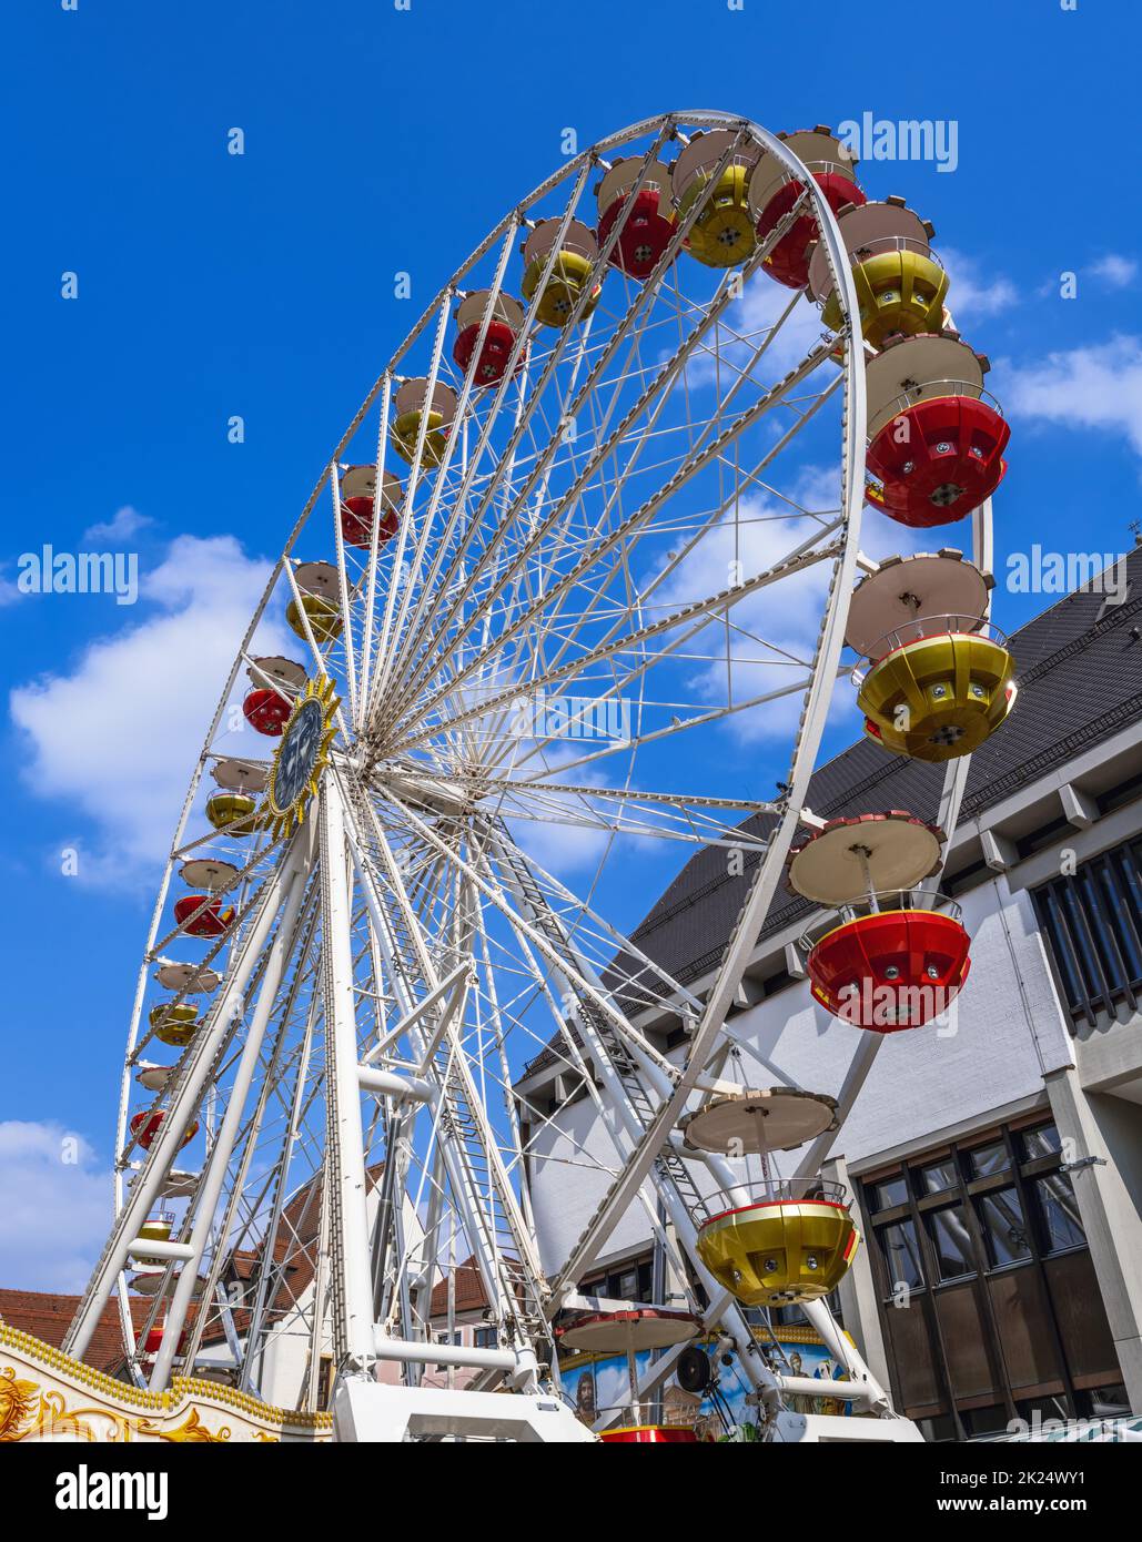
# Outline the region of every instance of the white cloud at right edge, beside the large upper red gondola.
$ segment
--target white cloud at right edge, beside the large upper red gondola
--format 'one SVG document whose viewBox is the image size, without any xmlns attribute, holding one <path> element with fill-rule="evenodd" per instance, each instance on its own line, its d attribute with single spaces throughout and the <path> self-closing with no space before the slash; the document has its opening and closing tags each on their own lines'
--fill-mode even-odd
<svg viewBox="0 0 1142 1542">
<path fill-rule="evenodd" d="M 1142 339 L 1116 336 L 1093 347 L 1048 353 L 1026 365 L 1003 361 L 1005 410 L 1066 429 L 1122 435 L 1142 455 Z"/>
</svg>

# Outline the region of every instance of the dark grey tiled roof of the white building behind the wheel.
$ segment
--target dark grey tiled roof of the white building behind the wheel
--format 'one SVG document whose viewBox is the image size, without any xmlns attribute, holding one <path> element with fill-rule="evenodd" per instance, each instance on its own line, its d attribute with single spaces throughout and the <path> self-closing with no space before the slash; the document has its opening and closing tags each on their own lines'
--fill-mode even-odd
<svg viewBox="0 0 1142 1542">
<path fill-rule="evenodd" d="M 1077 589 L 1012 634 L 1019 699 L 1002 732 L 972 756 L 961 819 L 972 819 L 1142 717 L 1142 638 L 1131 635 L 1142 628 L 1142 547 L 1130 552 L 1127 566 L 1130 588 L 1122 604 L 1108 604 L 1091 588 Z M 813 773 L 806 803 L 826 819 L 886 808 L 935 819 L 943 777 L 943 766 L 889 754 L 863 739 Z M 755 814 L 741 828 L 764 834 L 770 822 L 772 816 Z M 756 860 L 747 857 L 745 871 L 730 876 L 725 851 L 705 847 L 687 862 L 631 941 L 684 985 L 707 975 L 725 950 Z M 781 884 L 761 936 L 784 930 L 812 910 Z M 613 988 L 617 982 L 614 973 L 606 979 Z M 628 1005 L 639 1004 L 637 990 L 619 993 Z M 543 1050 L 525 1075 L 554 1059 L 551 1049 Z"/>
</svg>

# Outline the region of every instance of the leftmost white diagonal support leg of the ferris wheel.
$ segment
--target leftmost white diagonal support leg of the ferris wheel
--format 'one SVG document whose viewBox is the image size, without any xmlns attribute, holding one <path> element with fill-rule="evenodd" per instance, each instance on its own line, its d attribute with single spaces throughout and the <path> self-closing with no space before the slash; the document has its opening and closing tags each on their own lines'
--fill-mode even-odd
<svg viewBox="0 0 1142 1542">
<path fill-rule="evenodd" d="M 103 1251 L 103 1257 L 91 1275 L 83 1300 L 80 1301 L 79 1311 L 76 1312 L 71 1328 L 68 1329 L 68 1337 L 63 1342 L 65 1352 L 79 1360 L 82 1360 L 88 1351 L 91 1337 L 99 1326 L 117 1277 L 128 1266 L 131 1244 L 150 1215 L 154 1201 L 162 1190 L 164 1178 L 177 1156 L 179 1146 L 182 1143 L 182 1132 L 194 1116 L 199 1103 L 202 1101 L 202 1092 L 210 1075 L 215 1053 L 222 1038 L 230 1030 L 233 1013 L 245 993 L 245 987 L 255 965 L 261 958 L 265 942 L 269 941 L 273 922 L 281 910 L 286 885 L 298 870 L 299 850 L 302 845 L 304 836 L 299 840 L 295 839 L 295 845 L 282 864 L 281 871 L 261 901 L 259 911 L 250 927 L 250 931 L 239 944 L 233 973 L 224 984 L 215 1004 L 208 1019 L 208 1029 L 204 1033 L 196 1035 L 194 1044 L 187 1052 L 190 1058 L 171 1098 L 168 1110 L 170 1118 L 164 1123 L 157 1140 L 147 1153 L 147 1161 L 144 1163 L 142 1170 L 131 1184 L 123 1207 L 116 1218 L 116 1226 Z"/>
</svg>

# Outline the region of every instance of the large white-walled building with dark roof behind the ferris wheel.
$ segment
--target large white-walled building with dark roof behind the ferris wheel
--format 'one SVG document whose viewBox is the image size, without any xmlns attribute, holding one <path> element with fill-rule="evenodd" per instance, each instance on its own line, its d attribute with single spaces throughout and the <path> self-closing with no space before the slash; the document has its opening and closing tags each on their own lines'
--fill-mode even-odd
<svg viewBox="0 0 1142 1542">
<path fill-rule="evenodd" d="M 946 1018 L 886 1036 L 826 1166 L 864 1241 L 836 1308 L 929 1439 L 1142 1412 L 1142 550 L 1127 564 L 1125 592 L 1096 581 L 1012 637 L 1020 697 L 972 759 L 941 880 L 971 976 Z M 934 819 L 941 771 L 861 742 L 807 805 Z M 745 882 L 707 848 L 634 941 L 702 996 Z M 810 998 L 795 944 L 812 919 L 779 890 L 727 1024 L 727 1079 L 841 1087 L 863 1030 Z M 684 1053 L 679 1016 L 634 1022 Z M 603 1194 L 586 1161 L 614 1163 L 576 1093 L 556 1047 L 517 1084 L 548 1268 Z M 651 1260 L 631 1210 L 600 1294 L 651 1298 Z"/>
</svg>

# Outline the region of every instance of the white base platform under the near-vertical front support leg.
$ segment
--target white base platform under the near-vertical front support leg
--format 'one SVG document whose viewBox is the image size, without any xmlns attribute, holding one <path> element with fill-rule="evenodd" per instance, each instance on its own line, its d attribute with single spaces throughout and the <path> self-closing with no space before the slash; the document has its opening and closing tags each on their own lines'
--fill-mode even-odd
<svg viewBox="0 0 1142 1542">
<path fill-rule="evenodd" d="M 591 1429 L 554 1397 L 468 1392 L 438 1386 L 389 1386 L 344 1377 L 333 1389 L 333 1440 L 400 1442 L 418 1437 L 597 1443 Z"/>
</svg>

